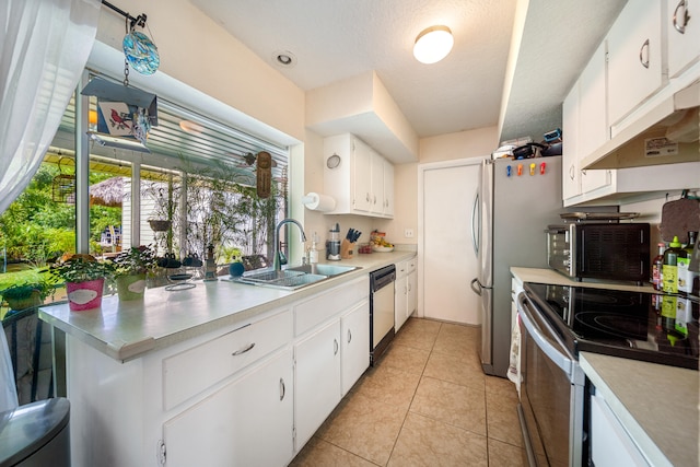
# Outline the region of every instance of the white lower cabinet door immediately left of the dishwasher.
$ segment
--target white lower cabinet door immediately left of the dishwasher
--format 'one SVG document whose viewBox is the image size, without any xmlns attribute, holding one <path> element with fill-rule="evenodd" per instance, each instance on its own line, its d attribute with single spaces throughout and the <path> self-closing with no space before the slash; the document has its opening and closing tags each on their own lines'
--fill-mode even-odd
<svg viewBox="0 0 700 467">
<path fill-rule="evenodd" d="M 362 302 L 340 318 L 340 369 L 342 393 L 370 366 L 370 304 Z"/>
</svg>

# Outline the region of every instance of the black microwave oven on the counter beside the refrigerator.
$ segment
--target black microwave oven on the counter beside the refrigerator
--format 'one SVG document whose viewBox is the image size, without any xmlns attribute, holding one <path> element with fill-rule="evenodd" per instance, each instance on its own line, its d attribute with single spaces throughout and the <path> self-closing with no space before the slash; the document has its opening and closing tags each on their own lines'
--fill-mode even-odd
<svg viewBox="0 0 700 467">
<path fill-rule="evenodd" d="M 650 278 L 650 224 L 571 223 L 547 229 L 547 262 L 576 280 Z"/>
</svg>

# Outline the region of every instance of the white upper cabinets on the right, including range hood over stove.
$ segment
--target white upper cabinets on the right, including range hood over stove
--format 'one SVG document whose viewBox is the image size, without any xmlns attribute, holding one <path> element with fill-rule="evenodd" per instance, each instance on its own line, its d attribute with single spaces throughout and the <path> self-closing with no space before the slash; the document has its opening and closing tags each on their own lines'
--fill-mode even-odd
<svg viewBox="0 0 700 467">
<path fill-rule="evenodd" d="M 565 206 L 700 187 L 700 40 L 690 9 L 688 0 L 673 9 L 629 2 L 590 58 L 562 106 Z"/>
</svg>

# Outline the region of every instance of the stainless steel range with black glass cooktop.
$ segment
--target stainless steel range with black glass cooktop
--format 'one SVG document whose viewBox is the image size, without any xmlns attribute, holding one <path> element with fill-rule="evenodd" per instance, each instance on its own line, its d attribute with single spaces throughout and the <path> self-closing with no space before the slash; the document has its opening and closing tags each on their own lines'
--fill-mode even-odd
<svg viewBox="0 0 700 467">
<path fill-rule="evenodd" d="M 530 466 L 587 465 L 579 352 L 698 370 L 697 297 L 525 283 L 521 425 Z"/>
</svg>

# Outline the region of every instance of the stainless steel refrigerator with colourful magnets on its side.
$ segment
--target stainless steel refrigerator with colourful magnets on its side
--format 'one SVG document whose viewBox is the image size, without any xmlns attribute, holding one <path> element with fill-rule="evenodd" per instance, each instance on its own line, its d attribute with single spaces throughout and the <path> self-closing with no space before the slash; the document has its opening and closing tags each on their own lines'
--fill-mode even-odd
<svg viewBox="0 0 700 467">
<path fill-rule="evenodd" d="M 481 297 L 481 365 L 505 377 L 511 349 L 512 266 L 547 267 L 547 225 L 561 223 L 561 156 L 487 160 L 471 213 Z"/>
</svg>

